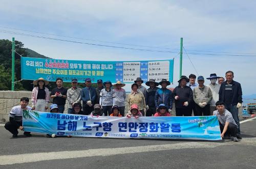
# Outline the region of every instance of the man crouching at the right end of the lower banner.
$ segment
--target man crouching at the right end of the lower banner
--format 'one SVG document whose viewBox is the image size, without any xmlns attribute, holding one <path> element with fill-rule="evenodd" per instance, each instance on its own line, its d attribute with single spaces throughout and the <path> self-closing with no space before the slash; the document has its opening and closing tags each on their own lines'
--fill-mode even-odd
<svg viewBox="0 0 256 169">
<path fill-rule="evenodd" d="M 234 142 L 238 142 L 238 125 L 234 121 L 231 112 L 225 109 L 224 102 L 216 102 L 217 110 L 214 111 L 214 116 L 218 117 L 218 121 L 221 129 L 221 137 L 228 138 L 231 135 L 230 139 Z"/>
</svg>

